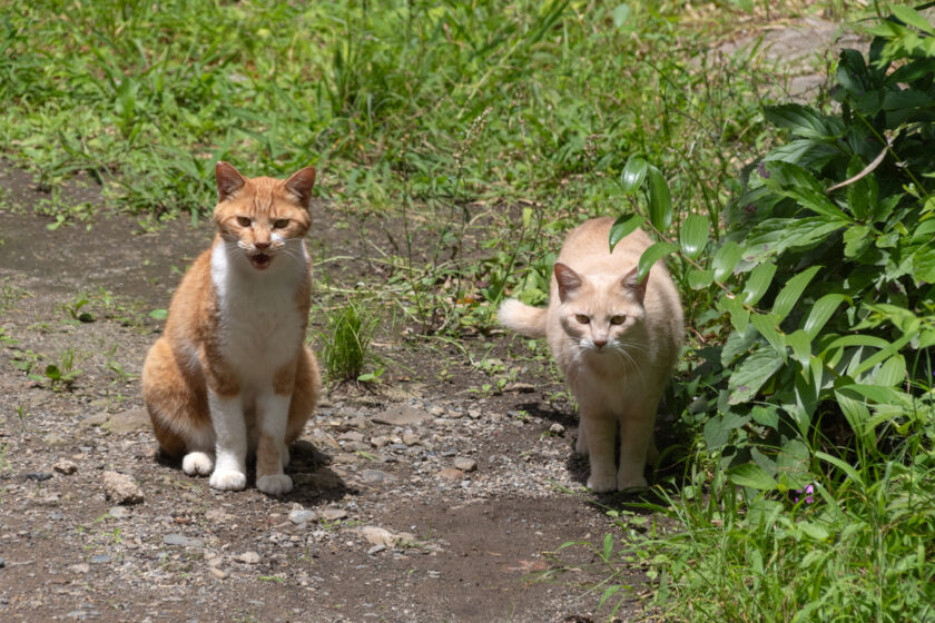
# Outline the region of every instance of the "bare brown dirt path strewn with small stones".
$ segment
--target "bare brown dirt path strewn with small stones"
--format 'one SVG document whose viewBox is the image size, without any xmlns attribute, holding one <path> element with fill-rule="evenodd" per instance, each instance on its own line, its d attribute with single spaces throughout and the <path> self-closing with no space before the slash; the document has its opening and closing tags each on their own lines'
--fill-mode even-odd
<svg viewBox="0 0 935 623">
<path fill-rule="evenodd" d="M 575 421 L 550 406 L 558 386 L 533 388 L 537 370 L 515 390 L 479 394 L 485 377 L 457 350 L 386 344 L 409 372 L 377 394 L 328 397 L 296 448 L 291 494 L 215 492 L 156 455 L 138 387 L 161 327 L 149 312 L 166 307 L 209 227 L 139 235 L 134 220 L 106 218 L 49 230 L 29 211 L 42 196 L 27 175 L 7 167 L 0 185 L 0 619 L 594 615 L 583 584 L 603 572 L 590 571 L 589 551 L 549 553 L 620 533 L 581 493 Z M 72 192 L 96 200 L 94 188 Z M 326 210 L 315 217 L 313 247 L 336 235 Z M 80 370 L 70 380 L 69 358 Z M 141 501 L 108 494 L 110 473 Z M 577 570 L 559 573 L 568 564 Z"/>
</svg>

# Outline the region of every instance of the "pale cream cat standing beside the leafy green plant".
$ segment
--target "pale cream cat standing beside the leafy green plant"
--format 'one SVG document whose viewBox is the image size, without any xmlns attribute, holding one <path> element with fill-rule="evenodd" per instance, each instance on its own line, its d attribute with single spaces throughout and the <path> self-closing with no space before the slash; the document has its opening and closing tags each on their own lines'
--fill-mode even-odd
<svg viewBox="0 0 935 623">
<path fill-rule="evenodd" d="M 590 456 L 596 492 L 647 486 L 643 466 L 656 455 L 652 428 L 662 390 L 682 343 L 679 294 L 657 263 L 637 279 L 637 263 L 652 243 L 637 230 L 610 253 L 612 218 L 575 228 L 555 263 L 548 308 L 509 299 L 500 322 L 545 337 L 578 399 L 575 449 Z M 620 429 L 620 466 L 614 441 Z"/>
</svg>

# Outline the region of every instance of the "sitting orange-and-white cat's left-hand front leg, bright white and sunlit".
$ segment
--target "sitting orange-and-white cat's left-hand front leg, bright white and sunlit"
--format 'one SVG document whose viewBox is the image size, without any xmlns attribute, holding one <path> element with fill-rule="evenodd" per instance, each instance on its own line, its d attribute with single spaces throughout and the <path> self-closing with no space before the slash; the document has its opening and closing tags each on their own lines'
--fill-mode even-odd
<svg viewBox="0 0 935 623">
<path fill-rule="evenodd" d="M 230 396 L 208 389 L 211 425 L 217 436 L 210 485 L 223 491 L 247 486 L 247 423 L 240 393 Z"/>
</svg>

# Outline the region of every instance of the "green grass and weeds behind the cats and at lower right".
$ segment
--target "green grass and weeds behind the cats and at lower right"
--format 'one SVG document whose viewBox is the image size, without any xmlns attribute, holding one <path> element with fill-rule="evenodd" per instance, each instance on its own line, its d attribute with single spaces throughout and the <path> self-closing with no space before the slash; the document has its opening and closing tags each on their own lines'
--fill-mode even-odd
<svg viewBox="0 0 935 623">
<path fill-rule="evenodd" d="M 107 208 L 148 226 L 199 218 L 214 204 L 218 159 L 249 175 L 315 165 L 329 209 L 402 224 L 391 250 L 366 258 L 383 271 L 365 284 L 373 299 L 347 305 L 350 290 L 324 280 L 317 303 L 331 312 L 319 323 L 319 355 L 338 382 L 378 377 L 367 372 L 384 312 L 373 300 L 391 301 L 416 335 L 449 343 L 486 334 L 504 295 L 543 303 L 563 234 L 631 209 L 620 176 L 634 157 L 671 190 L 668 235 L 689 215 L 722 222 L 742 168 L 784 140 L 761 106 L 783 80 L 756 44 L 725 57 L 717 43 L 801 16 L 854 23 L 888 4 L 0 0 L 0 151 L 50 191 L 39 211 L 51 227 L 92 220 L 97 207 L 59 199 L 77 171 L 102 185 Z M 692 288 L 688 266 L 675 264 L 687 316 L 702 329 L 695 352 L 722 346 L 730 327 L 715 309 L 719 293 Z M 0 295 L 0 307 L 14 304 L 13 293 Z M 79 296 L 63 314 L 124 313 Z M 718 319 L 725 326 L 705 330 Z M 471 360 L 491 377 L 483 392 L 512 380 L 509 364 L 498 368 L 486 354 Z M 26 352 L 14 365 L 35 373 L 40 363 Z M 65 354 L 55 366 L 59 385 L 78 374 Z M 127 379 L 119 364 L 110 369 Z M 700 376 L 680 384 L 673 407 L 717 396 L 706 384 Z M 824 454 L 809 452 L 800 466 L 797 477 L 815 487 L 805 503 L 730 483 L 738 473 L 706 446 L 716 402 L 688 417 L 698 452 L 689 453 L 687 483 L 652 507 L 669 522 L 618 514 L 619 534 L 599 548 L 608 568 L 648 571 L 648 617 L 935 620 L 928 412 L 886 452 L 810 448 Z M 629 560 L 614 557 L 620 538 Z M 613 603 L 620 589 L 609 573 L 604 596 Z"/>
</svg>

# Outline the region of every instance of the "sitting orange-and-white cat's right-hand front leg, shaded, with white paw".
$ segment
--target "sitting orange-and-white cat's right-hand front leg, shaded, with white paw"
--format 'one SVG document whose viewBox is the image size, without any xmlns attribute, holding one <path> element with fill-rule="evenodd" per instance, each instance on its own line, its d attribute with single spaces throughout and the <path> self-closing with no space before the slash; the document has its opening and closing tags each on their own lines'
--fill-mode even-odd
<svg viewBox="0 0 935 623">
<path fill-rule="evenodd" d="M 292 395 L 276 393 L 257 396 L 256 487 L 268 495 L 292 491 L 292 478 L 283 473 L 288 464 L 286 423 Z"/>
</svg>

